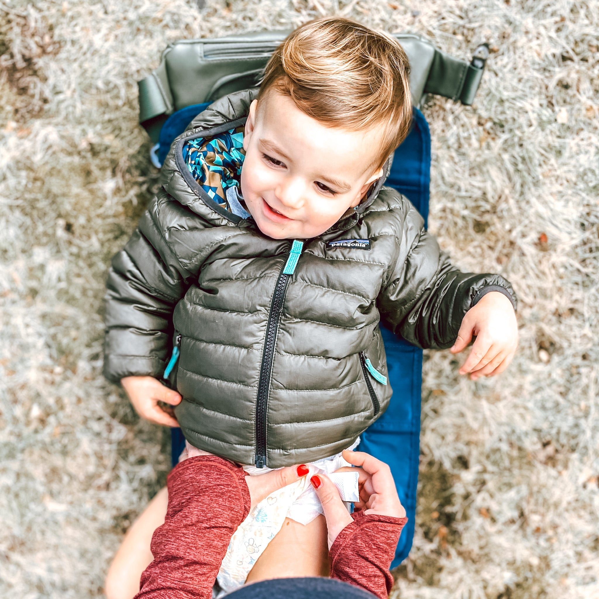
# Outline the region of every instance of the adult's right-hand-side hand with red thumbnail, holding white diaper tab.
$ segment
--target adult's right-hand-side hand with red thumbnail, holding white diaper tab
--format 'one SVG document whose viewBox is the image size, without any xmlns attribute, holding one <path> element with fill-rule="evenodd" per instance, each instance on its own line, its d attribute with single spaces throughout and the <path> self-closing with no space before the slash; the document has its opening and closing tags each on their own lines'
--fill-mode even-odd
<svg viewBox="0 0 599 599">
<path fill-rule="evenodd" d="M 373 458 L 368 453 L 347 450 L 343 452 L 343 458 L 350 464 L 360 467 L 358 470 L 360 500 L 354 504 L 355 510 L 365 510 L 366 514 L 379 514 L 394 518 L 406 516 L 406 510 L 397 495 L 391 469 L 385 462 Z M 337 472 L 355 471 L 356 468 L 337 470 Z M 328 531 L 328 544 L 331 549 L 338 534 L 353 522 L 353 518 L 347 512 L 337 487 L 331 482 L 331 479 L 323 474 L 315 474 L 311 477 L 310 482 L 322 503 Z"/>
</svg>

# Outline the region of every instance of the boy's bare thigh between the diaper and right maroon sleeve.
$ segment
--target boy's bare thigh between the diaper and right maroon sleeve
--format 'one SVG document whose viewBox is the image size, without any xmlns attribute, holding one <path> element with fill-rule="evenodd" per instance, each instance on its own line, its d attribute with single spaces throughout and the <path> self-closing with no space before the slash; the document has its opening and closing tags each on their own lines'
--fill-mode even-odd
<svg viewBox="0 0 599 599">
<path fill-rule="evenodd" d="M 272 578 L 329 576 L 326 521 L 318 516 L 310 524 L 289 518 L 256 560 L 247 583 Z"/>
</svg>

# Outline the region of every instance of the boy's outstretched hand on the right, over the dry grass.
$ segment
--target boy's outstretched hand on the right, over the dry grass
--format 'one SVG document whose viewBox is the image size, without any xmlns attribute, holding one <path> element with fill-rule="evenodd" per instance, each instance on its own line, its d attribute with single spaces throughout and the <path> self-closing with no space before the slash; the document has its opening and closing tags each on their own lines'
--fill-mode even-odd
<svg viewBox="0 0 599 599">
<path fill-rule="evenodd" d="M 460 374 L 470 374 L 472 380 L 495 376 L 506 370 L 518 347 L 518 323 L 512 302 L 498 291 L 492 291 L 467 311 L 459 328 L 451 353 L 459 353 L 476 341 Z"/>
</svg>

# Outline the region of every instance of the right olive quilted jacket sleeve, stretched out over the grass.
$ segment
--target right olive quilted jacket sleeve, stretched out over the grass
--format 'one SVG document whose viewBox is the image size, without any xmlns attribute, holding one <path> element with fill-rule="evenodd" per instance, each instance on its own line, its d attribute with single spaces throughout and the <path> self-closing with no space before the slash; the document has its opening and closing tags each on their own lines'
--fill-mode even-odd
<svg viewBox="0 0 599 599">
<path fill-rule="evenodd" d="M 410 343 L 430 349 L 451 347 L 465 313 L 489 291 L 503 293 L 516 307 L 512 286 L 501 275 L 462 273 L 454 267 L 406 199 L 398 244 L 379 310 L 392 330 Z"/>
</svg>

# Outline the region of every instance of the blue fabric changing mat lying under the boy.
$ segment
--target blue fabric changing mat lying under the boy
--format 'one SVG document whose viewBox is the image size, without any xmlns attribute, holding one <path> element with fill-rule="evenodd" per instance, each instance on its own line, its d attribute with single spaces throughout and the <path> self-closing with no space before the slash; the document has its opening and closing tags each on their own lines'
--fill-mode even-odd
<svg viewBox="0 0 599 599">
<path fill-rule="evenodd" d="M 174 113 L 161 132 L 159 156 L 166 156 L 168 147 L 187 124 L 204 109 L 206 104 L 183 108 Z M 179 117 L 179 113 L 187 111 Z M 174 117 L 177 117 L 175 119 Z M 172 121 L 172 122 L 171 122 Z M 171 123 L 171 124 L 169 124 Z M 164 129 L 168 125 L 168 130 Z M 179 126 L 179 129 L 176 127 Z M 163 155 L 163 133 L 165 150 Z M 166 145 L 168 143 L 168 146 Z M 163 158 L 164 159 L 164 158 Z M 386 184 L 395 187 L 415 205 L 425 223 L 428 217 L 429 187 L 431 182 L 431 134 L 423 114 L 414 109 L 412 131 L 403 144 L 395 150 L 391 173 Z M 422 350 L 394 335 L 384 323 L 381 326 L 389 383 L 394 394 L 387 411 L 364 434 L 358 449 L 386 462 L 391 467 L 400 500 L 409 518 L 401 533 L 391 567 L 403 561 L 410 552 L 416 520 L 416 486 L 420 455 L 420 393 L 422 386 Z M 185 439 L 181 429 L 174 428 L 172 435 L 173 465 Z"/>
</svg>

